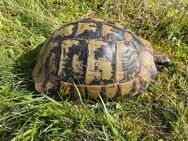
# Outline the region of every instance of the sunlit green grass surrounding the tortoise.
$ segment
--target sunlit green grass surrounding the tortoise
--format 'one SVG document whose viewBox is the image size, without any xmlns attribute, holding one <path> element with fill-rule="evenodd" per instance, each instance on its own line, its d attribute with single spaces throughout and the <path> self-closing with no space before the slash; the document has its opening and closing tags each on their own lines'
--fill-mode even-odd
<svg viewBox="0 0 188 141">
<path fill-rule="evenodd" d="M 55 101 L 34 90 L 32 69 L 55 29 L 87 17 L 118 21 L 166 53 L 141 96 Z M 187 0 L 1 0 L 0 140 L 188 140 Z"/>
</svg>

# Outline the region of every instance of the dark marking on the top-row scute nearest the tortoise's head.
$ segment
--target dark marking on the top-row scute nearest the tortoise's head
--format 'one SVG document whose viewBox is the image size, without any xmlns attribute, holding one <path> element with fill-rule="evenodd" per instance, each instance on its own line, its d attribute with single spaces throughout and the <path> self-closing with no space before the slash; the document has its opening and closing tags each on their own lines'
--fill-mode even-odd
<svg viewBox="0 0 188 141">
<path fill-rule="evenodd" d="M 140 41 L 140 39 L 134 34 L 129 32 L 133 39 L 130 41 L 130 44 L 132 44 L 136 49 L 144 49 L 144 44 Z"/>
</svg>

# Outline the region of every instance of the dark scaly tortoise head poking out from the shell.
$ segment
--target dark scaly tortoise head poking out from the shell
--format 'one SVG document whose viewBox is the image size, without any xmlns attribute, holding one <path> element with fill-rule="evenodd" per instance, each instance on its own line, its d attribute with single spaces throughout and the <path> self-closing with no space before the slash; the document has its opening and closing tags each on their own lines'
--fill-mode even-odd
<svg viewBox="0 0 188 141">
<path fill-rule="evenodd" d="M 154 52 L 154 61 L 158 70 L 171 65 L 171 60 L 160 52 Z"/>
</svg>

